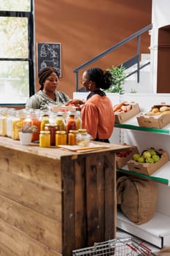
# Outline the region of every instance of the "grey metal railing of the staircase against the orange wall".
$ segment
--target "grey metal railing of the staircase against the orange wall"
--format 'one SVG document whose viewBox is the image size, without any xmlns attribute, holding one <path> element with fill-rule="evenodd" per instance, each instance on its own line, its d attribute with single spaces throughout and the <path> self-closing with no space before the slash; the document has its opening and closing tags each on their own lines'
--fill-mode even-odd
<svg viewBox="0 0 170 256">
<path fill-rule="evenodd" d="M 89 61 L 86 61 L 85 63 L 81 64 L 79 67 L 74 69 L 74 73 L 76 74 L 76 91 L 80 91 L 78 80 L 79 80 L 79 71 L 81 69 L 84 69 L 88 65 L 92 64 L 95 61 L 98 61 L 98 59 L 101 59 L 102 57 L 106 56 L 108 53 L 111 53 L 113 50 L 116 50 L 117 48 L 120 48 L 120 46 L 125 45 L 127 42 L 131 41 L 132 39 L 137 37 L 137 48 L 136 48 L 136 55 L 133 56 L 131 59 L 128 59 L 127 61 L 124 61 L 122 64 L 126 69 L 129 67 L 134 66 L 134 64 L 137 64 L 137 68 L 134 72 L 131 72 L 126 77 L 129 77 L 130 75 L 134 75 L 134 73 L 137 73 L 137 82 L 139 83 L 139 72 L 140 69 L 143 67 L 146 67 L 148 64 L 150 64 L 150 61 L 148 61 L 146 64 L 140 66 L 140 55 L 141 55 L 141 34 L 143 34 L 146 31 L 149 31 L 152 29 L 152 23 L 150 25 L 145 26 L 143 29 L 137 31 L 136 33 L 132 34 L 130 37 L 127 37 L 123 39 L 122 41 L 118 42 L 116 45 L 113 45 L 111 48 L 108 48 L 107 50 L 104 50 L 102 53 L 99 53 L 97 56 L 95 56 L 93 59 L 90 59 Z M 119 65 L 119 66 L 120 66 Z M 118 66 L 118 67 L 119 67 Z"/>
</svg>

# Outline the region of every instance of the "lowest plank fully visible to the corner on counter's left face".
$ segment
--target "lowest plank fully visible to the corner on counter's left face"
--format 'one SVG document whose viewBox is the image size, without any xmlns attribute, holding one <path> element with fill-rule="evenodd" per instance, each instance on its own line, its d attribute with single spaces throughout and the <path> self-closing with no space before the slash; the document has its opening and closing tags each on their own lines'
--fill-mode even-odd
<svg viewBox="0 0 170 256">
<path fill-rule="evenodd" d="M 61 252 L 61 222 L 0 195 L 0 219 Z"/>
</svg>

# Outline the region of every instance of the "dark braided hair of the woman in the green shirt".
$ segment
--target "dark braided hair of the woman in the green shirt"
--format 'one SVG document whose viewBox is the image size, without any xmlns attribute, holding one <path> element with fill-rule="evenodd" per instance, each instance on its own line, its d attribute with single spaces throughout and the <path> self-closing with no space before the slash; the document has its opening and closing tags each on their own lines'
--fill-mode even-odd
<svg viewBox="0 0 170 256">
<path fill-rule="evenodd" d="M 40 89 L 39 90 L 43 90 L 44 89 L 44 83 L 45 83 L 45 80 L 52 74 L 52 73 L 55 73 L 58 78 L 59 78 L 59 74 L 57 72 L 57 69 L 55 69 L 55 67 L 45 67 L 43 69 L 41 69 L 39 71 L 39 84 L 40 84 Z"/>
</svg>

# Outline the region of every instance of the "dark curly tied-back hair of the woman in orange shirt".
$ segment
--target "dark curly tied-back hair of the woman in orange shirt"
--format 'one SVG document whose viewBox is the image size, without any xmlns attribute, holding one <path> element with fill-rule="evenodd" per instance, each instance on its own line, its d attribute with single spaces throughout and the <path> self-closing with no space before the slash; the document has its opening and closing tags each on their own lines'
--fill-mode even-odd
<svg viewBox="0 0 170 256">
<path fill-rule="evenodd" d="M 86 70 L 88 80 L 96 83 L 97 88 L 109 89 L 112 84 L 112 74 L 109 70 L 102 70 L 99 67 L 91 67 Z"/>
</svg>

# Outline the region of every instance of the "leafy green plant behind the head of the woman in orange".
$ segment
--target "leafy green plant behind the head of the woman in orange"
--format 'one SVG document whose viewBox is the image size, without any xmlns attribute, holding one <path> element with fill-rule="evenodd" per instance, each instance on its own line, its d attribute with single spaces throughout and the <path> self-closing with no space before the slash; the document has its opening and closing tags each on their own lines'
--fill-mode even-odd
<svg viewBox="0 0 170 256">
<path fill-rule="evenodd" d="M 123 94 L 123 83 L 125 80 L 125 67 L 121 65 L 120 67 L 112 66 L 112 69 L 107 69 L 112 74 L 112 85 L 109 89 L 105 90 L 107 92 L 115 92 L 117 94 Z"/>
</svg>

